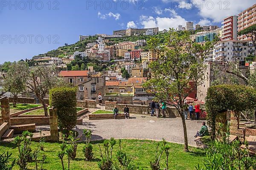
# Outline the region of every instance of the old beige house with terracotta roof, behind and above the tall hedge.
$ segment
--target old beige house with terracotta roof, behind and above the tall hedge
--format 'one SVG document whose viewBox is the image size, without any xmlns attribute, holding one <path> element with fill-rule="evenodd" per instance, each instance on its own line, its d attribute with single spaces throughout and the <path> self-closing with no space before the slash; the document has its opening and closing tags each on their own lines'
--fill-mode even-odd
<svg viewBox="0 0 256 170">
<path fill-rule="evenodd" d="M 61 71 L 59 77 L 63 77 L 65 82 L 77 87 L 78 100 L 95 100 L 105 89 L 105 77 L 89 75 L 89 71 Z"/>
</svg>

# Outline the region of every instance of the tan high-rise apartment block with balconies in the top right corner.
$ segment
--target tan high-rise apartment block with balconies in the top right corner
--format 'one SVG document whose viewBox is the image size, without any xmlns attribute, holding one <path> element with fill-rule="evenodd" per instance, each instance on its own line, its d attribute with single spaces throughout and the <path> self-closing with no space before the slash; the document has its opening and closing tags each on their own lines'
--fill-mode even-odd
<svg viewBox="0 0 256 170">
<path fill-rule="evenodd" d="M 238 31 L 256 24 L 256 4 L 238 14 Z M 238 40 L 250 40 L 245 35 L 238 37 Z"/>
</svg>

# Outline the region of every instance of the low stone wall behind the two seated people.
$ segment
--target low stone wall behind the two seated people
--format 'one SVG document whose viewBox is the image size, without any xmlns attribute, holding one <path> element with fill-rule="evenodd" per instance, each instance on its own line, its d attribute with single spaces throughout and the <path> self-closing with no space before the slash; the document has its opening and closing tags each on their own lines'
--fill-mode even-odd
<svg viewBox="0 0 256 170">
<path fill-rule="evenodd" d="M 118 110 L 120 112 L 123 112 L 125 105 L 123 104 L 117 104 L 117 102 L 105 102 L 105 109 L 112 111 L 113 108 L 117 106 Z M 146 105 L 128 105 L 128 108 L 130 108 L 131 114 L 148 114 L 148 106 Z"/>
</svg>

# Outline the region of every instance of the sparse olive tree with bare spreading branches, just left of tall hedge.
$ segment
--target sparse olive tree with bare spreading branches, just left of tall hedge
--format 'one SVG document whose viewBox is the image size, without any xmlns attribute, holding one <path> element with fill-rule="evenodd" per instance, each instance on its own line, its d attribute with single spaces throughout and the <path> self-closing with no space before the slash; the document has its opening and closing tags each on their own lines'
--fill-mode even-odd
<svg viewBox="0 0 256 170">
<path fill-rule="evenodd" d="M 26 87 L 29 88 L 44 106 L 44 115 L 48 116 L 47 105 L 44 98 L 49 90 L 64 85 L 64 80 L 55 74 L 55 67 L 35 66 L 29 69 Z"/>
</svg>

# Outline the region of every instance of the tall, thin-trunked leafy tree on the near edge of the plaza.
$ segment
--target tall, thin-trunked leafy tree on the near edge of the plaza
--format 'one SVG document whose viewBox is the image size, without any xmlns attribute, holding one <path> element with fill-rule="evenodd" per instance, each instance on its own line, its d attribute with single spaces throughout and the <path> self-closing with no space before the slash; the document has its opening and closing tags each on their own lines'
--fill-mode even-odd
<svg viewBox="0 0 256 170">
<path fill-rule="evenodd" d="M 179 35 L 170 30 L 166 43 L 151 38 L 150 48 L 159 55 L 159 59 L 149 65 L 152 79 L 143 86 L 148 92 L 177 108 L 182 119 L 184 133 L 184 150 L 189 151 L 186 122 L 183 115 L 184 101 L 205 80 L 204 59 L 213 48 L 214 42 L 207 41 L 204 45 L 192 42 L 190 34 L 184 31 Z"/>
</svg>

